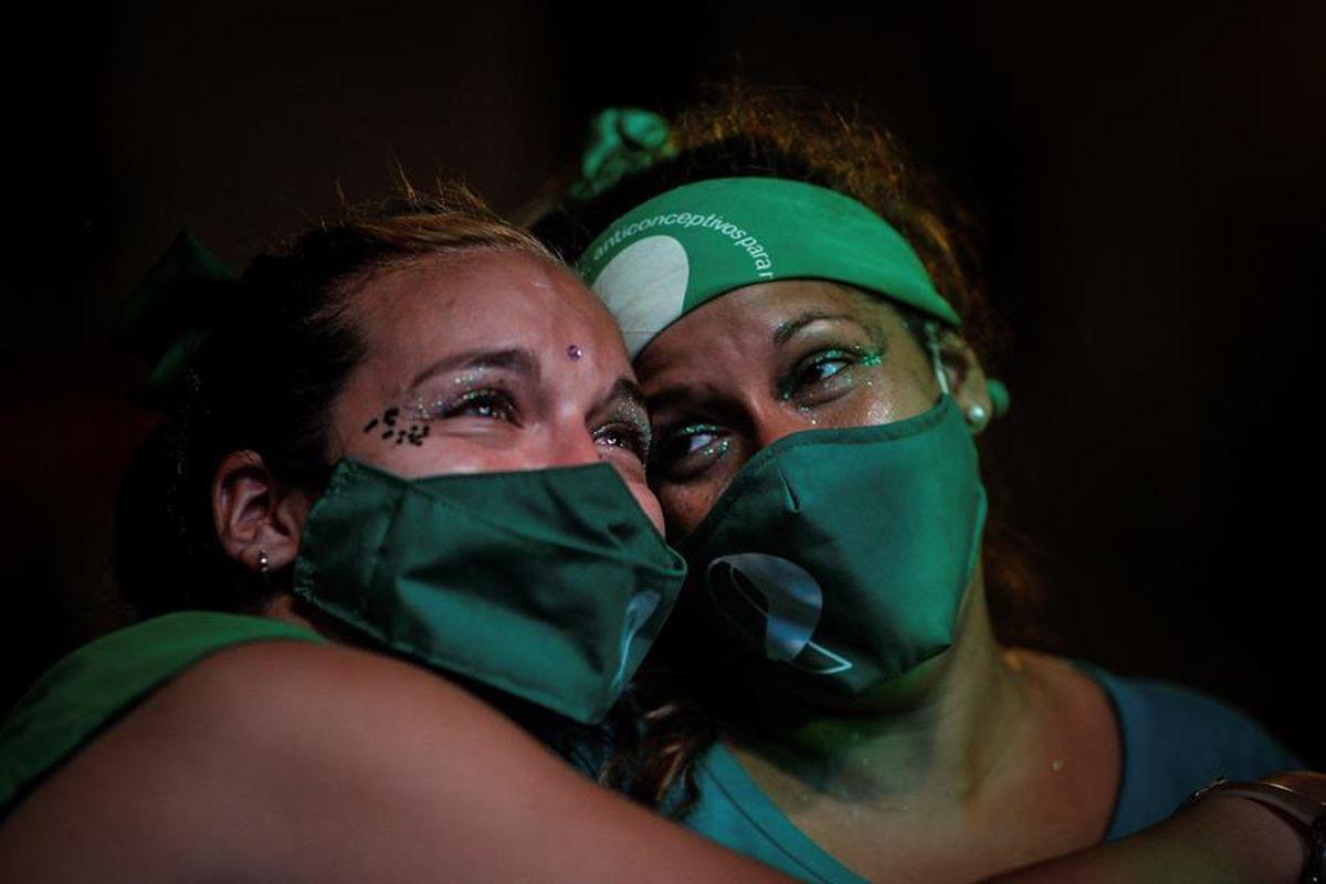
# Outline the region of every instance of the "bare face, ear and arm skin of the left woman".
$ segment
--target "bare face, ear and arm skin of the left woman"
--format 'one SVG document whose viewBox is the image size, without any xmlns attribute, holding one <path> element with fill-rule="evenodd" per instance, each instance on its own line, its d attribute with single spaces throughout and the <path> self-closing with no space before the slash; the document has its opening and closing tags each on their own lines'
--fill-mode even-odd
<svg viewBox="0 0 1326 884">
<path fill-rule="evenodd" d="M 660 524 L 621 338 L 564 270 L 423 260 L 354 309 L 371 355 L 333 408 L 337 453 L 406 476 L 606 461 Z M 476 345 L 522 355 L 452 364 Z M 420 444 L 365 432 L 420 399 Z M 309 505 L 253 452 L 217 470 L 217 535 L 249 567 L 293 561 Z M 289 599 L 271 615 L 300 620 Z M 0 880 L 786 879 L 599 789 L 436 673 L 274 641 L 188 669 L 56 771 L 0 827 Z"/>
</svg>

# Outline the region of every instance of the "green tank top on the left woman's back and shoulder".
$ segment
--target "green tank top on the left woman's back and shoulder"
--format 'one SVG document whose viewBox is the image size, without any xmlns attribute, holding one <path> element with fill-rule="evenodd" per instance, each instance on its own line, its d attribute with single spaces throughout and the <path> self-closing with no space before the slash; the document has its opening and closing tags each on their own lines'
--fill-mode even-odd
<svg viewBox="0 0 1326 884">
<path fill-rule="evenodd" d="M 249 641 L 313 641 L 268 618 L 182 611 L 85 644 L 52 667 L 0 725 L 0 816 L 117 718 L 203 657 Z"/>
</svg>

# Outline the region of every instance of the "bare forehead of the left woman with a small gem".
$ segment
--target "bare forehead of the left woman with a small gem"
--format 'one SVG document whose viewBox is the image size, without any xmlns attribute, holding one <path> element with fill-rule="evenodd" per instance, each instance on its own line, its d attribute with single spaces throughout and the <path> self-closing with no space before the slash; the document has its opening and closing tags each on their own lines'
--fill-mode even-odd
<svg viewBox="0 0 1326 884">
<path fill-rule="evenodd" d="M 574 276 L 517 252 L 420 257 L 362 282 L 351 305 L 369 362 L 416 363 L 457 346 L 621 349 L 611 318 Z"/>
</svg>

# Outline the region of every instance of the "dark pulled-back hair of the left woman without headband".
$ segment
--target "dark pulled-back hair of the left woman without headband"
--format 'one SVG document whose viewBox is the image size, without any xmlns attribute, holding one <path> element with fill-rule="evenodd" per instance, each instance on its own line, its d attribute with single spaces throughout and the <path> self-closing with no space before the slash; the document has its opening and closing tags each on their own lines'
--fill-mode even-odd
<svg viewBox="0 0 1326 884">
<path fill-rule="evenodd" d="M 115 573 L 138 616 L 257 611 L 288 582 L 288 574 L 263 580 L 223 553 L 211 512 L 220 460 L 253 451 L 280 481 L 320 490 L 333 456 L 328 412 L 365 357 L 355 293 L 375 273 L 485 249 L 556 261 L 463 186 L 427 193 L 406 184 L 260 254 L 217 315 L 194 319 L 206 342 L 175 394 L 156 403 L 164 420 L 117 496 Z"/>
</svg>

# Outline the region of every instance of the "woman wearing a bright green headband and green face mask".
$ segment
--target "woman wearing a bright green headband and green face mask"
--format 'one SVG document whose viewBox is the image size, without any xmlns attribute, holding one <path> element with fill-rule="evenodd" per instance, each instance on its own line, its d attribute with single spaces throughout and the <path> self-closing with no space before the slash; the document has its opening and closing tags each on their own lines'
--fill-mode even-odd
<svg viewBox="0 0 1326 884">
<path fill-rule="evenodd" d="M 1008 396 L 973 349 L 989 321 L 961 244 L 884 135 L 740 93 L 671 133 L 595 125 L 536 229 L 635 360 L 691 566 L 664 656 L 697 698 L 664 688 L 607 765 L 625 787 L 810 880 L 949 881 L 1301 766 L 1215 700 L 1001 643 L 973 440 Z"/>
</svg>

